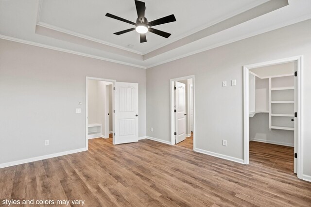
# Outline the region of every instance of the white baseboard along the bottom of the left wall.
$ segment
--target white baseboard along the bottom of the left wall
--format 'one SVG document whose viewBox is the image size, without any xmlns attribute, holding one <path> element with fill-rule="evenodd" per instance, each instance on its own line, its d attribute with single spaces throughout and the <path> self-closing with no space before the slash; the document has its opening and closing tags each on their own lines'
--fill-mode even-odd
<svg viewBox="0 0 311 207">
<path fill-rule="evenodd" d="M 42 160 L 42 159 L 55 158 L 55 157 L 59 157 L 59 156 L 63 156 L 63 155 L 69 155 L 69 154 L 73 154 L 73 153 L 77 153 L 77 152 L 83 152 L 83 151 L 87 151 L 87 149 L 86 148 L 73 149 L 73 150 L 69 150 L 69 151 L 65 151 L 65 152 L 58 152 L 58 153 L 54 153 L 54 154 L 50 154 L 50 155 L 43 155 L 43 156 L 39 156 L 39 157 L 35 157 L 35 158 L 21 159 L 21 160 L 12 161 L 12 162 L 1 163 L 0 168 L 10 167 L 10 166 L 24 164 L 24 163 L 28 163 L 28 162 L 34 162 L 34 161 L 38 161 L 38 160 Z"/>
</svg>

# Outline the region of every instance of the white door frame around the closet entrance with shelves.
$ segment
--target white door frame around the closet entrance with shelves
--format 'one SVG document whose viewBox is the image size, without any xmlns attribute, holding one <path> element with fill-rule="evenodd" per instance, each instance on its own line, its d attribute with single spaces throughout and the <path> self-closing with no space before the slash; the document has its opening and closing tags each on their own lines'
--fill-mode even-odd
<svg viewBox="0 0 311 207">
<path fill-rule="evenodd" d="M 301 115 L 302 113 L 302 107 L 301 107 L 301 100 L 302 100 L 302 59 L 303 56 L 294 56 L 289 58 L 283 58 L 268 62 L 262 62 L 257 64 L 249 64 L 243 66 L 243 157 L 244 157 L 244 164 L 249 163 L 249 80 L 248 80 L 248 74 L 249 69 L 257 68 L 257 67 L 263 67 L 263 66 L 269 66 L 274 64 L 283 64 L 283 63 L 289 63 L 289 62 L 295 62 L 296 61 L 296 67 L 297 67 L 297 177 L 299 179 L 303 179 L 303 172 L 302 172 L 302 161 L 303 161 L 303 152 L 302 152 L 302 143 L 303 143 L 303 137 L 301 136 L 302 131 L 302 124 L 301 124 Z M 294 156 L 294 155 L 293 155 Z"/>
</svg>

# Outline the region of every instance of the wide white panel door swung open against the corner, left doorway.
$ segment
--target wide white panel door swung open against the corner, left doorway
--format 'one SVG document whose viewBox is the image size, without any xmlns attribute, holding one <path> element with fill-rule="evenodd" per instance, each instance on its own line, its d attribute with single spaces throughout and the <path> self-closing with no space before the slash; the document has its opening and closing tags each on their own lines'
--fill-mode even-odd
<svg viewBox="0 0 311 207">
<path fill-rule="evenodd" d="M 138 142 L 138 83 L 115 83 L 113 144 Z"/>
</svg>

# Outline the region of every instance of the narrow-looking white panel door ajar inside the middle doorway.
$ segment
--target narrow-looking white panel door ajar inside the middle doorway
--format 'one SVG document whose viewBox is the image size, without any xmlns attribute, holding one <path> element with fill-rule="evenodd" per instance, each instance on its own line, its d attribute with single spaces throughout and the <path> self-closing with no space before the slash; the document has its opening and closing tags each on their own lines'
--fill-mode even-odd
<svg viewBox="0 0 311 207">
<path fill-rule="evenodd" d="M 175 143 L 186 139 L 186 84 L 175 82 Z"/>
</svg>

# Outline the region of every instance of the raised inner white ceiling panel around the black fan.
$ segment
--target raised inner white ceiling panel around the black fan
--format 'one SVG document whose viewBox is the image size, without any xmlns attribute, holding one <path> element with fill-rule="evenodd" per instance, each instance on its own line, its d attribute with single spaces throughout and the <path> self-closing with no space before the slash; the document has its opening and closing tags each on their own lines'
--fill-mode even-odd
<svg viewBox="0 0 311 207">
<path fill-rule="evenodd" d="M 134 0 L 43 0 L 39 21 L 120 47 L 133 45 L 134 51 L 144 54 L 268 0 L 142 1 L 146 5 L 145 16 L 148 21 L 174 14 L 176 22 L 155 26 L 155 29 L 172 33 L 169 39 L 148 32 L 147 42 L 140 43 L 139 34 L 135 31 L 120 36 L 113 34 L 134 26 L 106 17 L 105 14 L 136 22 Z"/>
</svg>

